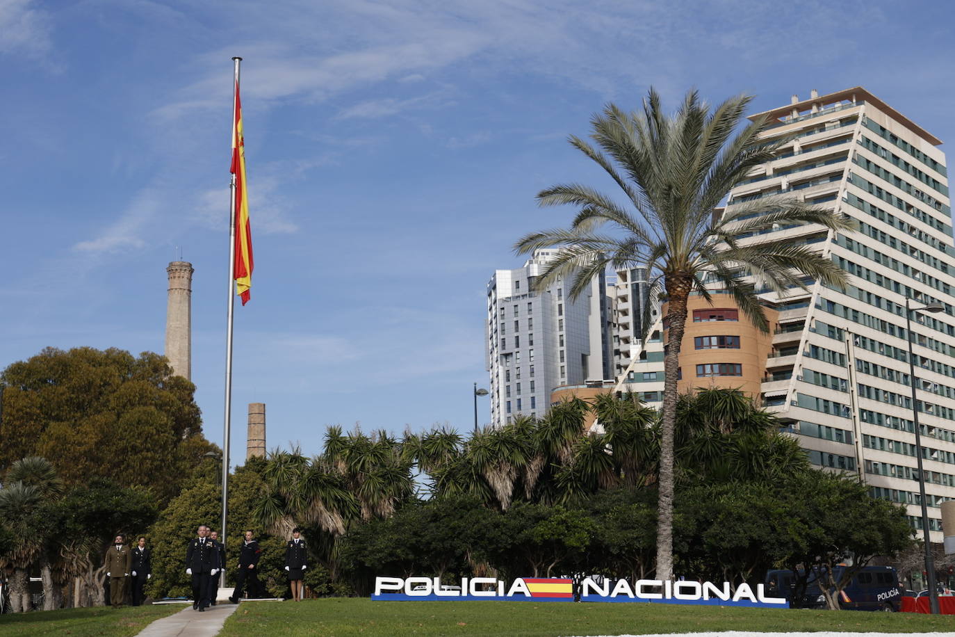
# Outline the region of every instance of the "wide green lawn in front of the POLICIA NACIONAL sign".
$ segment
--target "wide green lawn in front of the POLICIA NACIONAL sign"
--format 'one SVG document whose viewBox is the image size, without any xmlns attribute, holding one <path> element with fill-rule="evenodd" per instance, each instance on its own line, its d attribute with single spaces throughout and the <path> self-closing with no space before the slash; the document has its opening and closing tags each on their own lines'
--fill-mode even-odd
<svg viewBox="0 0 955 637">
<path fill-rule="evenodd" d="M 371 602 L 329 598 L 299 604 L 244 603 L 223 637 L 282 635 L 620 635 L 759 631 L 926 632 L 955 630 L 955 617 L 826 610 L 657 604 Z"/>
</svg>

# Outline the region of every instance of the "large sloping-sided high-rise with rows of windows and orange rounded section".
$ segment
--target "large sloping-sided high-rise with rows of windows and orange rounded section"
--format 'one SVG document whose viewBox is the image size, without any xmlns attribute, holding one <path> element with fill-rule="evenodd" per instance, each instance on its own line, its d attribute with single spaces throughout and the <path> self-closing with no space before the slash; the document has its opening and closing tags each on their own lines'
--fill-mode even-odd
<svg viewBox="0 0 955 637">
<path fill-rule="evenodd" d="M 758 394 L 814 464 L 857 472 L 874 497 L 905 504 L 921 529 L 918 410 L 931 535 L 942 541 L 939 505 L 955 498 L 955 248 L 942 142 L 860 87 L 794 96 L 756 117 L 771 122 L 765 138 L 788 140 L 732 191 L 727 209 L 792 193 L 857 220 L 853 232 L 800 225 L 767 233 L 832 258 L 850 274 L 849 286 L 809 281 L 807 292 L 761 294 L 771 308 L 769 335 L 756 334 L 728 295 L 694 305 L 683 383 L 736 383 Z M 944 312 L 913 311 L 909 334 L 906 301 L 941 303 Z M 662 398 L 663 342 L 645 345 L 619 387 L 652 402 Z"/>
</svg>

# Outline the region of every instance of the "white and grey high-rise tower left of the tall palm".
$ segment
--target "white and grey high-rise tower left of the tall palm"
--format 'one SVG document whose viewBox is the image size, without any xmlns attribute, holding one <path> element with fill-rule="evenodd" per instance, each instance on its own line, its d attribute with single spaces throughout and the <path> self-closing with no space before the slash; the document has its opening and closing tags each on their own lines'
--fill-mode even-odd
<svg viewBox="0 0 955 637">
<path fill-rule="evenodd" d="M 570 299 L 571 281 L 543 291 L 535 281 L 557 248 L 535 250 L 523 267 L 496 270 L 487 284 L 485 350 L 491 376 L 491 424 L 518 414 L 541 416 L 559 386 L 584 386 L 610 371 L 609 312 L 605 278 Z"/>
</svg>

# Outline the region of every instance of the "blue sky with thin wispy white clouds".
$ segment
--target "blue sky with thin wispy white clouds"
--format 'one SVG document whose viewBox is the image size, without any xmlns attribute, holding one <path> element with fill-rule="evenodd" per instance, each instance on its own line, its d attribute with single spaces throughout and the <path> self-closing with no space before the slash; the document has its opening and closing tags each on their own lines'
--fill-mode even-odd
<svg viewBox="0 0 955 637">
<path fill-rule="evenodd" d="M 161 351 L 165 266 L 196 268 L 193 380 L 222 441 L 230 57 L 242 55 L 256 271 L 236 309 L 268 446 L 325 426 L 472 425 L 484 286 L 562 180 L 565 138 L 655 86 L 674 107 L 862 85 L 955 138 L 945 2 L 0 0 L 0 366 Z M 943 147 L 944 148 L 944 147 Z M 482 418 L 487 404 L 480 405 Z"/>
</svg>

